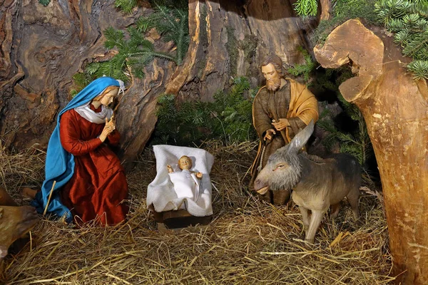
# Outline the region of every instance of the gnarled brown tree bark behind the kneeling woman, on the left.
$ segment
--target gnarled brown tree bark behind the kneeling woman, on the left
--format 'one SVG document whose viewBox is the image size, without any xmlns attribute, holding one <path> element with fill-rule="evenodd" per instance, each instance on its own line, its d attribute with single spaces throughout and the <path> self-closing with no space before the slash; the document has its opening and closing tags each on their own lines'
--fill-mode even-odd
<svg viewBox="0 0 428 285">
<path fill-rule="evenodd" d="M 102 32 L 109 26 L 125 29 L 149 6 L 124 14 L 113 0 L 51 1 L 46 7 L 38 1 L 0 0 L 0 5 L 1 138 L 18 149 L 46 147 L 56 115 L 71 99 L 73 75 L 86 63 L 108 57 Z M 146 36 L 163 51 L 172 48 L 159 36 L 150 38 L 151 32 Z M 135 160 L 150 138 L 157 97 L 173 68 L 173 63 L 153 61 L 146 78 L 135 79 L 121 98 L 116 119 L 123 160 Z"/>
</svg>

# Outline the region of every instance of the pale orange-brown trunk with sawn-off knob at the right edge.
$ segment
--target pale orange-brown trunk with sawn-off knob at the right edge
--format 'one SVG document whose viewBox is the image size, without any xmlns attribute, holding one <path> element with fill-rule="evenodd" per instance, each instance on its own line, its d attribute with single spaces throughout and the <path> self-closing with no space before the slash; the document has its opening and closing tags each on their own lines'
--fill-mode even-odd
<svg viewBox="0 0 428 285">
<path fill-rule="evenodd" d="M 392 39 L 350 20 L 315 47 L 326 68 L 352 63 L 340 86 L 362 111 L 379 167 L 397 284 L 428 284 L 428 87 L 413 81 Z M 382 41 L 383 40 L 383 41 Z M 385 51 L 385 53 L 384 53 Z"/>
</svg>

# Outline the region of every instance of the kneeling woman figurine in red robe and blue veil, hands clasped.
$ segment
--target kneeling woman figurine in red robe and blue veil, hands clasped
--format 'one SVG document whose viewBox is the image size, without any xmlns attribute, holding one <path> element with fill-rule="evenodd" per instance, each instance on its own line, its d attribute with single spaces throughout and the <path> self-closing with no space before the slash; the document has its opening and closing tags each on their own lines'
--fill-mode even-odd
<svg viewBox="0 0 428 285">
<path fill-rule="evenodd" d="M 98 78 L 58 114 L 46 154 L 46 179 L 34 199 L 39 212 L 48 204 L 47 212 L 68 222 L 118 224 L 126 218 L 128 183 L 108 147 L 120 139 L 108 105 L 123 89 L 121 81 Z"/>
</svg>

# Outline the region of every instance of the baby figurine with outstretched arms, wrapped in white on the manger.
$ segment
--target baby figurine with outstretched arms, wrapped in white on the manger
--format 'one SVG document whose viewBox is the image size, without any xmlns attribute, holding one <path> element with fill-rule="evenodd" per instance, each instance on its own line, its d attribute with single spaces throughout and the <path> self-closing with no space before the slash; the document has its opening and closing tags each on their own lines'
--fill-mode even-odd
<svg viewBox="0 0 428 285">
<path fill-rule="evenodd" d="M 190 171 L 192 168 L 192 160 L 190 157 L 183 155 L 178 160 L 178 167 L 181 171 L 174 171 L 170 165 L 166 166 L 170 175 L 170 180 L 173 182 L 174 191 L 178 198 L 190 198 L 196 202 L 199 197 L 201 172 Z"/>
</svg>

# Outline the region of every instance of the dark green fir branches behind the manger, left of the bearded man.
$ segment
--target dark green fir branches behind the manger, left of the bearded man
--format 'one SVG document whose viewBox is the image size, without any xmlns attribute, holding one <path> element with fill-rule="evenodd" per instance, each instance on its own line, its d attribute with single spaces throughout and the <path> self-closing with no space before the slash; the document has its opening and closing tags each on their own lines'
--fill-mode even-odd
<svg viewBox="0 0 428 285">
<path fill-rule="evenodd" d="M 173 95 L 158 100 L 158 124 L 153 143 L 193 145 L 207 139 L 226 142 L 254 140 L 252 98 L 246 78 L 236 78 L 228 93 L 219 91 L 214 102 L 187 101 L 177 106 Z"/>
</svg>

